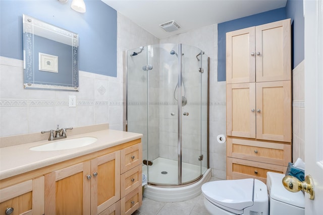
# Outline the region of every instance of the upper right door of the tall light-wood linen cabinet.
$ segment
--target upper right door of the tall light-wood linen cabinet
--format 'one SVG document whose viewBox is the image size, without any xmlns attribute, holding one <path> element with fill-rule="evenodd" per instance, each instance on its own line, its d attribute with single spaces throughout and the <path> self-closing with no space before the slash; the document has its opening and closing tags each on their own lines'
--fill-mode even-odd
<svg viewBox="0 0 323 215">
<path fill-rule="evenodd" d="M 291 80 L 290 19 L 256 26 L 256 82 Z"/>
</svg>

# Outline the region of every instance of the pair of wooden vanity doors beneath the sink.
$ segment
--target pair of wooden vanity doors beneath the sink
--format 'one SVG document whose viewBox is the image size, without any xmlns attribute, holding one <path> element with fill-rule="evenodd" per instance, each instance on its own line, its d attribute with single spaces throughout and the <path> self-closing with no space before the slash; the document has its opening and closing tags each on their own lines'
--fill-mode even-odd
<svg viewBox="0 0 323 215">
<path fill-rule="evenodd" d="M 120 199 L 120 151 L 45 175 L 47 214 L 98 214 Z"/>
</svg>

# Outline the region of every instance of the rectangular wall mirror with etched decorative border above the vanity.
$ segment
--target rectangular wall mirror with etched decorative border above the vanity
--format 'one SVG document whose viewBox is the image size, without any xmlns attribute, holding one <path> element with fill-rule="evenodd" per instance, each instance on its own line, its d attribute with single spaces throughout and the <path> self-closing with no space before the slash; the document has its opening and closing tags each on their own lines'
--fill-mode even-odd
<svg viewBox="0 0 323 215">
<path fill-rule="evenodd" d="M 25 89 L 79 91 L 78 34 L 23 15 Z"/>
</svg>

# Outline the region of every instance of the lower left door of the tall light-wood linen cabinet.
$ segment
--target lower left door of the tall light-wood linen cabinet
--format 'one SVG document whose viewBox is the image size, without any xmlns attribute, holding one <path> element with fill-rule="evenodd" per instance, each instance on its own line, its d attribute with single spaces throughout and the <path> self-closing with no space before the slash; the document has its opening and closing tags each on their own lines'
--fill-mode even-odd
<svg viewBox="0 0 323 215">
<path fill-rule="evenodd" d="M 255 83 L 227 85 L 227 135 L 255 138 Z"/>
</svg>

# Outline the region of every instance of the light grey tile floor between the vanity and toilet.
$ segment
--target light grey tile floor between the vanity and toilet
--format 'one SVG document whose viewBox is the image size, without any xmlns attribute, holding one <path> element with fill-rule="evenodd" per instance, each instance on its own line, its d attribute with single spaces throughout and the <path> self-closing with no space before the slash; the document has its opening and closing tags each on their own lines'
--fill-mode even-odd
<svg viewBox="0 0 323 215">
<path fill-rule="evenodd" d="M 141 207 L 132 215 L 209 215 L 203 203 L 203 194 L 180 202 L 159 202 L 144 197 Z"/>
</svg>

